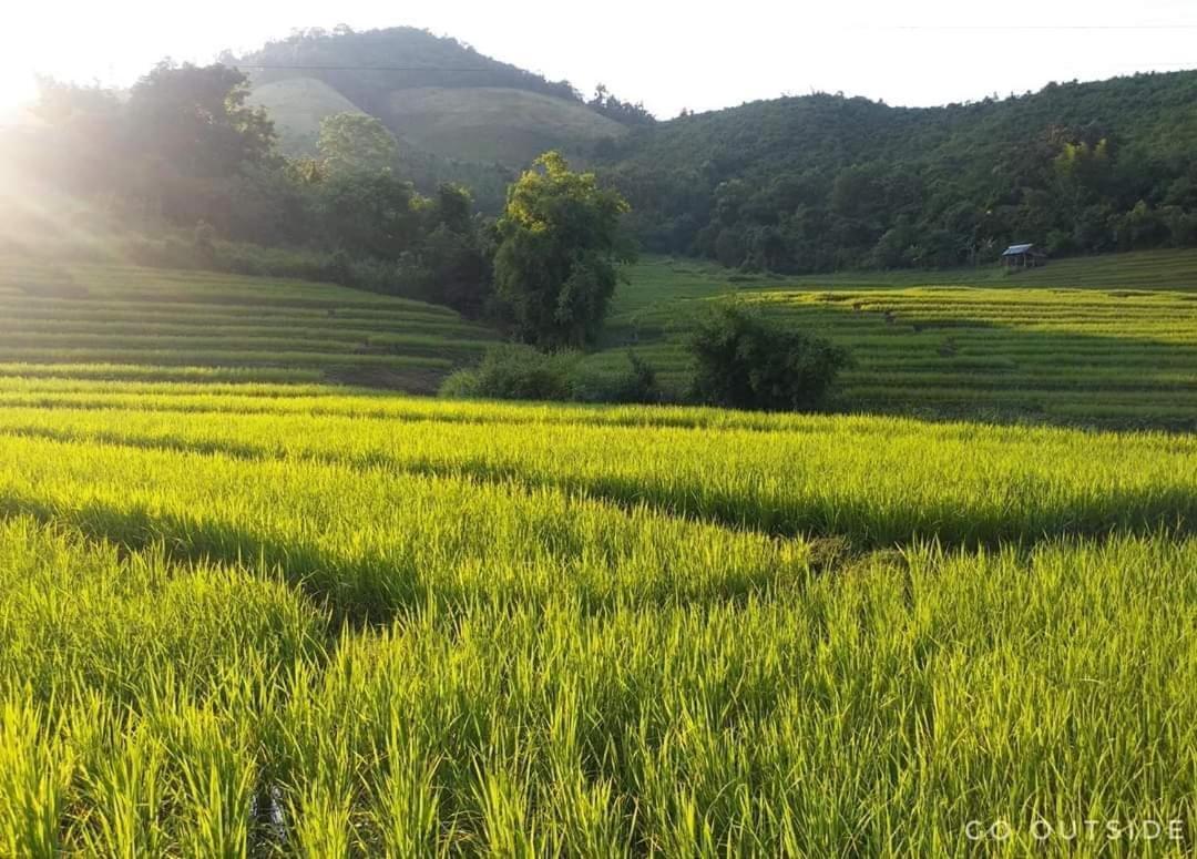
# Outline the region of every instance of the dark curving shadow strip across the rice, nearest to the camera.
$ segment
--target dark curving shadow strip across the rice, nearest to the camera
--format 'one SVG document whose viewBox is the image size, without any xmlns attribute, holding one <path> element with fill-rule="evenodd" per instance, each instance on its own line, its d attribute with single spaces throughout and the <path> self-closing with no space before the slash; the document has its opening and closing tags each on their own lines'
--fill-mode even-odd
<svg viewBox="0 0 1197 859">
<path fill-rule="evenodd" d="M 603 614 L 615 608 L 660 608 L 743 605 L 778 591 L 801 589 L 806 572 L 821 571 L 827 553 L 812 552 L 809 559 L 794 563 L 762 563 L 749 573 L 737 571 L 706 581 L 650 581 L 628 589 L 609 580 L 587 575 L 571 578 L 567 565 L 553 568 L 553 577 L 512 579 L 509 573 L 524 569 L 516 559 L 512 569 L 488 569 L 488 559 L 462 568 L 421 567 L 413 559 L 371 552 L 338 554 L 288 538 L 272 538 L 229 519 L 201 520 L 145 508 L 116 508 L 105 504 L 61 507 L 18 494 L 0 495 L 0 518 L 18 516 L 78 531 L 85 540 L 107 542 L 121 555 L 160 549 L 175 565 L 235 565 L 297 589 L 320 610 L 326 611 L 330 630 L 388 626 L 435 608 L 448 617 L 480 607 L 514 608 L 539 604 L 553 596 L 571 597 L 583 615 Z M 573 558 L 569 552 L 561 561 Z M 467 559 L 469 560 L 469 559 Z M 474 578 L 463 571 L 479 566 Z"/>
</svg>

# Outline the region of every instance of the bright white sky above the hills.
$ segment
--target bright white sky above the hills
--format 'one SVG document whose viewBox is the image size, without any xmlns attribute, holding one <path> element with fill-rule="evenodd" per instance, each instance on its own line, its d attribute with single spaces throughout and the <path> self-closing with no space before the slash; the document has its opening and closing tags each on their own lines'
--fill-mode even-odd
<svg viewBox="0 0 1197 859">
<path fill-rule="evenodd" d="M 8 0 L 0 108 L 34 74 L 126 86 L 154 62 L 211 62 L 298 28 L 419 26 L 666 118 L 812 91 L 926 106 L 1197 68 L 1197 0 Z"/>
</svg>

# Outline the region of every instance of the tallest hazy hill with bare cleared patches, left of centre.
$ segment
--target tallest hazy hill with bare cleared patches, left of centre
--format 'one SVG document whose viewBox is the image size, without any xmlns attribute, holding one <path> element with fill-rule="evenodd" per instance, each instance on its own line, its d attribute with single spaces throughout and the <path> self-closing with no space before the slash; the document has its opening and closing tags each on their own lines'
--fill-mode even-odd
<svg viewBox="0 0 1197 859">
<path fill-rule="evenodd" d="M 546 150 L 590 152 L 627 128 L 570 84 L 413 28 L 309 30 L 231 57 L 253 74 L 255 100 L 310 151 L 312 126 L 338 109 L 383 120 L 414 148 L 522 167 Z"/>
</svg>

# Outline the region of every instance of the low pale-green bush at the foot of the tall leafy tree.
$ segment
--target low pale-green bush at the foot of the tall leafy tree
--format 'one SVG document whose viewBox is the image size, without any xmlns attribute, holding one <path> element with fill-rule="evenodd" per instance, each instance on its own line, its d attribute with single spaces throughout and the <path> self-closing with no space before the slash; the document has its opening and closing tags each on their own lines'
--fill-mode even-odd
<svg viewBox="0 0 1197 859">
<path fill-rule="evenodd" d="M 488 400 L 569 400 L 577 353 L 539 352 L 504 343 L 486 352 L 474 370 L 461 370 L 440 388 L 443 396 Z"/>
</svg>

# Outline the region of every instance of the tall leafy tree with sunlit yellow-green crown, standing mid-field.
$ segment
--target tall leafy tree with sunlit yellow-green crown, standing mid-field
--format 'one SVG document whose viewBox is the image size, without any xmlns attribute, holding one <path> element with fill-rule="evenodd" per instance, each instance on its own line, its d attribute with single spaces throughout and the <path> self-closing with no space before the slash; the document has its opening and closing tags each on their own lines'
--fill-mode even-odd
<svg viewBox="0 0 1197 859">
<path fill-rule="evenodd" d="M 536 159 L 498 223 L 494 285 L 519 339 L 546 348 L 594 340 L 633 254 L 620 240 L 625 200 L 557 152 Z"/>
</svg>

